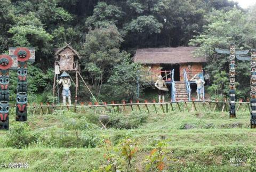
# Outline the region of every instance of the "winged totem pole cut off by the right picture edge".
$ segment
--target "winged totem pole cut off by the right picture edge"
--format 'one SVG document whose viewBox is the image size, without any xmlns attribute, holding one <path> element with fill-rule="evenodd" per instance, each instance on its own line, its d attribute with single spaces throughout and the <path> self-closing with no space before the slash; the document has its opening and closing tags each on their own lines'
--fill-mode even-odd
<svg viewBox="0 0 256 172">
<path fill-rule="evenodd" d="M 239 55 L 239 60 L 251 60 L 251 128 L 256 128 L 256 49 L 252 49 L 251 56 Z"/>
</svg>

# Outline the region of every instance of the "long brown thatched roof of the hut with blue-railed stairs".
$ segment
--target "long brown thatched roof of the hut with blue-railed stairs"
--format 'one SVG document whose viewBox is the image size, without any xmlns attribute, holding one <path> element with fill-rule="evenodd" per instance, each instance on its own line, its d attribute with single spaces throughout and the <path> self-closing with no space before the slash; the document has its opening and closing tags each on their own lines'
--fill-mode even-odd
<svg viewBox="0 0 256 172">
<path fill-rule="evenodd" d="M 143 48 L 138 49 L 133 58 L 134 62 L 142 64 L 177 64 L 177 63 L 203 63 L 205 57 L 195 58 L 193 52 L 197 47 L 176 48 Z"/>
</svg>

